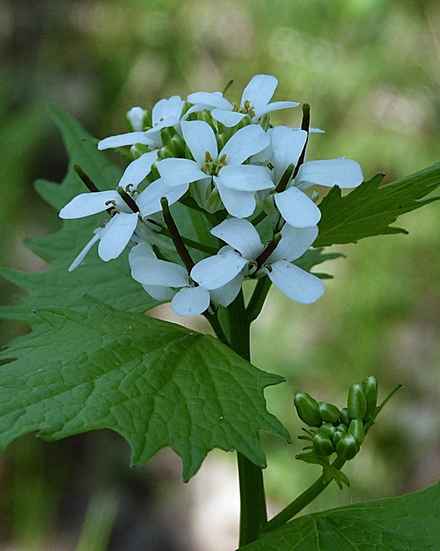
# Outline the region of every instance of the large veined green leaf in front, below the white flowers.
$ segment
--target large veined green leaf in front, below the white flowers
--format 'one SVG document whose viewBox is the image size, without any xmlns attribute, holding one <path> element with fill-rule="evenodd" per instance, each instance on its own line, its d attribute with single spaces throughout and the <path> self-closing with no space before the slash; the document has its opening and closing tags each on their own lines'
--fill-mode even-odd
<svg viewBox="0 0 440 551">
<path fill-rule="evenodd" d="M 58 440 L 110 428 L 133 464 L 170 445 L 193 476 L 214 447 L 260 467 L 258 430 L 289 438 L 263 389 L 283 378 L 255 368 L 209 335 L 86 298 L 89 310 L 45 308 L 39 334 L 19 337 L 0 360 L 0 450 L 28 432 Z"/>
</svg>

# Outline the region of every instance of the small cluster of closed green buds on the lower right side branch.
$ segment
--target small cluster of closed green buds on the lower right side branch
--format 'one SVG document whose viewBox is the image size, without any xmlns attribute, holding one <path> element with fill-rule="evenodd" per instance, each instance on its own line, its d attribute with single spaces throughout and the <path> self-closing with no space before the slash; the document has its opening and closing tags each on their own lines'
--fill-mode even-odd
<svg viewBox="0 0 440 551">
<path fill-rule="evenodd" d="M 294 403 L 298 417 L 311 429 L 303 429 L 319 457 L 328 458 L 336 452 L 343 461 L 353 459 L 359 452 L 365 432 L 373 424 L 377 412 L 378 381 L 375 376 L 365 377 L 361 384 L 351 385 L 346 408 L 317 402 L 304 392 L 295 393 Z"/>
</svg>

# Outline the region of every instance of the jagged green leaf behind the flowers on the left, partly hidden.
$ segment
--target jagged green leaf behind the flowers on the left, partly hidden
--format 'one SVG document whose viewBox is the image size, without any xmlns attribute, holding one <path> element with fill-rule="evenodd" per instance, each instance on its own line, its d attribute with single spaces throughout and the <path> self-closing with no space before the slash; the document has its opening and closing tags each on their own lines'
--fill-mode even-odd
<svg viewBox="0 0 440 551">
<path fill-rule="evenodd" d="M 114 189 L 121 178 L 121 170 L 106 160 L 90 141 L 89 134 L 70 115 L 57 107 L 51 107 L 51 111 L 71 156 L 70 169 L 62 185 L 38 180 L 35 187 L 43 199 L 59 211 L 72 197 L 86 191 L 72 170 L 74 163 L 81 165 L 100 190 Z M 119 258 L 104 262 L 97 255 L 97 246 L 94 246 L 78 268 L 67 271 L 105 216 L 104 212 L 93 217 L 66 220 L 57 233 L 28 239 L 26 244 L 29 249 L 48 261 L 51 267 L 42 273 L 1 268 L 0 275 L 26 290 L 28 295 L 20 298 L 21 305 L 0 307 L 0 317 L 39 325 L 42 320 L 32 315 L 33 309 L 62 306 L 84 310 L 83 293 L 93 293 L 100 300 L 123 310 L 144 312 L 158 305 L 159 302 L 150 298 L 142 286 L 131 278 L 128 251 L 124 251 Z"/>
</svg>

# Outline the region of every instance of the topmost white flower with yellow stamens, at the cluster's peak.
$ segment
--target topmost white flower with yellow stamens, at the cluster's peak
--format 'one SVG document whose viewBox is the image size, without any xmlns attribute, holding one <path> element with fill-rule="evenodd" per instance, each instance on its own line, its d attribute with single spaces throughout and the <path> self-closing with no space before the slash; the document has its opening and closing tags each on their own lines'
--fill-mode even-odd
<svg viewBox="0 0 440 551">
<path fill-rule="evenodd" d="M 233 104 L 224 98 L 221 92 L 195 92 L 188 96 L 188 102 L 196 104 L 189 111 L 212 109 L 211 115 L 214 119 L 229 127 L 238 124 L 246 115 L 251 118 L 252 122 L 258 123 L 259 119 L 270 111 L 299 105 L 298 102 L 269 103 L 277 85 L 278 81 L 275 77 L 255 75 L 243 90 L 238 112 L 233 110 Z"/>
</svg>

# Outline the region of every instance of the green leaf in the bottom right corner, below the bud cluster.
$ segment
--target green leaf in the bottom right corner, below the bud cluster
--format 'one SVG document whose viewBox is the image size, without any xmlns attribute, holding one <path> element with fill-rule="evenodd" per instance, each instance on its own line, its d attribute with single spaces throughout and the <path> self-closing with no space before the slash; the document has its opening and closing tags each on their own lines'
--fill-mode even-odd
<svg viewBox="0 0 440 551">
<path fill-rule="evenodd" d="M 440 483 L 399 498 L 305 515 L 246 551 L 438 551 Z"/>
</svg>

